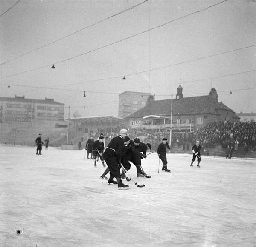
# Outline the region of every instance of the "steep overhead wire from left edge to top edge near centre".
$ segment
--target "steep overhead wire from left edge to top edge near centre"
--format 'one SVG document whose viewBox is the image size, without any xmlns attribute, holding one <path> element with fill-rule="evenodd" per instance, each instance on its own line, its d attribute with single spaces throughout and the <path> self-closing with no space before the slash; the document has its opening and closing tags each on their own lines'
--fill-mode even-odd
<svg viewBox="0 0 256 247">
<path fill-rule="evenodd" d="M 103 19 L 103 20 L 100 20 L 100 21 L 98 21 L 98 22 L 96 22 L 96 23 L 93 23 L 93 24 L 91 24 L 91 25 L 89 25 L 89 26 L 86 26 L 86 27 L 84 27 L 84 28 L 81 28 L 81 29 L 79 29 L 78 31 L 75 31 L 75 32 L 73 32 L 73 33 L 71 33 L 71 34 L 67 34 L 66 36 L 61 37 L 61 38 L 59 38 L 59 39 L 57 39 L 57 40 L 54 40 L 54 41 L 52 41 L 52 42 L 50 42 L 50 43 L 48 43 L 48 44 L 46 44 L 46 45 L 42 45 L 41 47 L 38 47 L 38 48 L 36 48 L 36 49 L 34 49 L 34 50 L 32 50 L 32 51 L 26 52 L 26 53 L 24 53 L 24 54 L 21 54 L 20 56 L 17 56 L 17 57 L 14 57 L 14 58 L 10 59 L 10 60 L 7 60 L 7 61 L 5 61 L 5 62 L 2 62 L 0 65 L 3 65 L 3 64 L 6 64 L 7 62 L 11 62 L 11 61 L 13 61 L 13 60 L 16 60 L 17 58 L 23 57 L 23 56 L 25 56 L 25 55 L 27 55 L 27 54 L 30 54 L 30 53 L 34 52 L 34 51 L 38 51 L 38 50 L 41 49 L 41 48 L 44 48 L 44 47 L 46 47 L 46 46 L 48 46 L 48 45 L 51 45 L 51 44 L 53 44 L 53 43 L 56 43 L 56 42 L 58 42 L 58 41 L 60 41 L 60 40 L 63 40 L 63 39 L 65 39 L 65 38 L 67 38 L 67 37 L 70 37 L 70 36 L 72 36 L 72 35 L 74 35 L 74 34 L 77 34 L 77 33 L 81 32 L 81 31 L 83 31 L 83 30 L 85 30 L 85 29 L 87 29 L 87 28 L 90 28 L 90 27 L 95 26 L 95 25 L 97 25 L 97 24 L 99 24 L 99 23 L 102 23 L 102 22 L 105 21 L 105 20 L 108 20 L 108 19 L 110 19 L 110 18 L 112 18 L 112 17 L 116 17 L 116 16 L 119 15 L 119 14 L 125 13 L 126 11 L 129 11 L 129 10 L 131 10 L 131 9 L 134 9 L 134 8 L 136 8 L 137 6 L 140 6 L 141 4 L 143 4 L 143 3 L 147 2 L 147 1 L 148 1 L 148 0 L 145 0 L 145 1 L 143 1 L 143 2 L 141 2 L 141 3 L 138 3 L 138 4 L 134 5 L 134 6 L 131 6 L 131 7 L 128 8 L 128 9 L 125 9 L 125 10 L 122 10 L 122 11 L 116 13 L 116 14 L 113 14 L 113 15 L 111 15 L 111 16 L 109 16 L 109 17 Z M 55 63 L 55 64 L 56 64 L 56 63 Z"/>
</svg>

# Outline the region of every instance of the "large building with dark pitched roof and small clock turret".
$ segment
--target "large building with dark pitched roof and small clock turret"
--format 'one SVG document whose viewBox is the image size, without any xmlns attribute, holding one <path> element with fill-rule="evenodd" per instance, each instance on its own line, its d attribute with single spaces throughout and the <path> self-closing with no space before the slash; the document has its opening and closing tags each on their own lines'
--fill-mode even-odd
<svg viewBox="0 0 256 247">
<path fill-rule="evenodd" d="M 181 85 L 175 99 L 154 100 L 150 95 L 146 106 L 125 119 L 130 128 L 190 130 L 203 128 L 210 122 L 239 122 L 235 112 L 218 102 L 218 94 L 212 88 L 208 95 L 183 97 Z M 171 110 L 172 109 L 172 110 Z"/>
</svg>

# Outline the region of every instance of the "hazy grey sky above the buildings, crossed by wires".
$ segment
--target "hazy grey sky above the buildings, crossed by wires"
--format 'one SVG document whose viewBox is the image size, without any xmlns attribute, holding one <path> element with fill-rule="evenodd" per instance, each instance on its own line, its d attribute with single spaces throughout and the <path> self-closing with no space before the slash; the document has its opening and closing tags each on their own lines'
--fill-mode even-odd
<svg viewBox="0 0 256 247">
<path fill-rule="evenodd" d="M 0 75 L 0 97 L 53 98 L 66 118 L 117 116 L 124 91 L 170 99 L 179 83 L 255 113 L 256 1 L 0 1 Z"/>
</svg>

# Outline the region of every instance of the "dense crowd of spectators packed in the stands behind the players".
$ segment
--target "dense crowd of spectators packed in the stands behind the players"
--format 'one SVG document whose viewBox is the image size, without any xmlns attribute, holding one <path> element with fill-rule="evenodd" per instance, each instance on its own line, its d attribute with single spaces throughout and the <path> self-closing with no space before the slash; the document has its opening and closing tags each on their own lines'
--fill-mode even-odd
<svg viewBox="0 0 256 247">
<path fill-rule="evenodd" d="M 90 133 L 93 138 L 97 138 L 100 133 Z M 115 132 L 104 133 L 106 145 L 115 136 L 118 136 L 119 130 Z M 149 142 L 153 149 L 156 149 L 163 137 L 170 138 L 170 131 L 168 129 L 128 129 L 128 135 L 131 139 L 140 137 L 144 143 Z M 189 129 L 172 130 L 172 145 L 175 144 L 183 147 L 183 150 L 190 150 L 196 140 L 200 141 L 202 150 L 207 151 L 214 147 L 215 144 L 220 143 L 222 148 L 227 148 L 232 145 L 234 150 L 244 147 L 245 151 L 248 146 L 252 146 L 256 150 L 256 122 L 211 122 L 201 129 L 190 132 Z"/>
</svg>

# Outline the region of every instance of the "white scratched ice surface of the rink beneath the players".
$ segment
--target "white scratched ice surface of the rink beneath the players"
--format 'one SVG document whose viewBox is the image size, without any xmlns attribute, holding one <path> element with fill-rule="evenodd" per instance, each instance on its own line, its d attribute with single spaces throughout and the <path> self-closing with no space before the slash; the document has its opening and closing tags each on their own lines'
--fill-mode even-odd
<svg viewBox="0 0 256 247">
<path fill-rule="evenodd" d="M 167 154 L 143 159 L 118 190 L 85 150 L 0 146 L 0 247 L 256 246 L 256 161 Z M 196 163 L 196 162 L 195 162 Z M 194 165 L 196 165 L 194 163 Z M 22 230 L 16 234 L 16 230 Z"/>
</svg>

